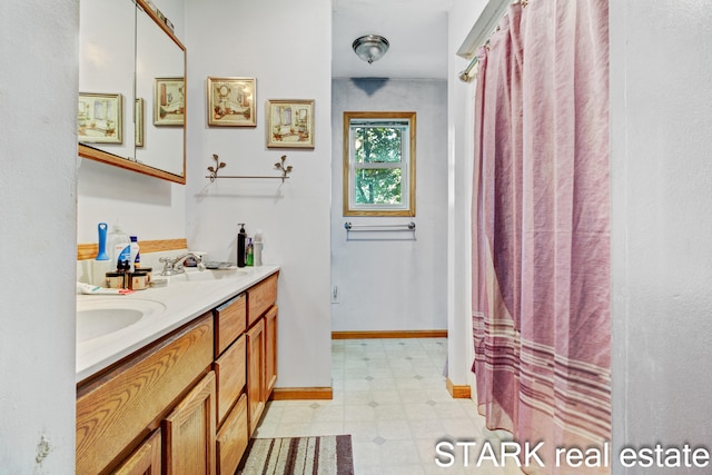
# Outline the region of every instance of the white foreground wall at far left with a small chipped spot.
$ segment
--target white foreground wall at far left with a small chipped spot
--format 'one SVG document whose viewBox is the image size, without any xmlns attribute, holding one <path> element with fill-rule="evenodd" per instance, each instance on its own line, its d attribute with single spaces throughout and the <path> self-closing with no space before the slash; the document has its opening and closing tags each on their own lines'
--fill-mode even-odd
<svg viewBox="0 0 712 475">
<path fill-rule="evenodd" d="M 75 471 L 77 0 L 0 3 L 0 472 Z"/>
</svg>

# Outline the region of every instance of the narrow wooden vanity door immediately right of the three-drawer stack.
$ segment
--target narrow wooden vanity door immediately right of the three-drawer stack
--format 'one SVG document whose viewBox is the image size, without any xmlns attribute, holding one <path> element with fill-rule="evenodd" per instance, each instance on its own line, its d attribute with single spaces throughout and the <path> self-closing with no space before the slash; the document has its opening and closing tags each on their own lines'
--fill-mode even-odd
<svg viewBox="0 0 712 475">
<path fill-rule="evenodd" d="M 265 319 L 247 331 L 247 405 L 251 437 L 265 409 Z"/>
</svg>

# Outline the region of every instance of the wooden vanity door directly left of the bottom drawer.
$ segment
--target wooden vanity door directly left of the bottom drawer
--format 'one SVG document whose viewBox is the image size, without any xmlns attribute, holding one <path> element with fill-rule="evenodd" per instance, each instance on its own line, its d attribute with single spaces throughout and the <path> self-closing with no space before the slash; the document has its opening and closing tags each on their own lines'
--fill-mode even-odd
<svg viewBox="0 0 712 475">
<path fill-rule="evenodd" d="M 215 373 L 208 373 L 164 419 L 167 475 L 215 475 Z"/>
</svg>

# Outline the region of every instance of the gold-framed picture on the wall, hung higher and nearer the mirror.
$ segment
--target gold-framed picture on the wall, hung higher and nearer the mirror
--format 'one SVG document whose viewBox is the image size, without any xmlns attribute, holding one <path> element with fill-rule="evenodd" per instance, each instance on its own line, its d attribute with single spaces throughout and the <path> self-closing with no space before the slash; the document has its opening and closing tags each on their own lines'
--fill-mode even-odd
<svg viewBox="0 0 712 475">
<path fill-rule="evenodd" d="M 208 126 L 255 127 L 255 78 L 208 76 Z"/>
</svg>

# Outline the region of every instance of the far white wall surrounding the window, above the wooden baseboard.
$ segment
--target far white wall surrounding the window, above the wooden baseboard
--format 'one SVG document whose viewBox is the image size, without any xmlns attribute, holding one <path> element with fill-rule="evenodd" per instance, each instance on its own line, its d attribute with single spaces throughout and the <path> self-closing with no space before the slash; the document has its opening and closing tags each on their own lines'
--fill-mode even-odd
<svg viewBox="0 0 712 475">
<path fill-rule="evenodd" d="M 447 328 L 447 83 L 335 79 L 332 101 L 332 284 L 338 288 L 338 304 L 332 305 L 333 329 Z M 414 218 L 344 217 L 344 111 L 417 113 Z M 408 231 L 360 232 L 352 237 L 359 240 L 347 240 L 345 221 L 354 225 L 414 221 L 416 240 L 412 240 Z"/>
</svg>

